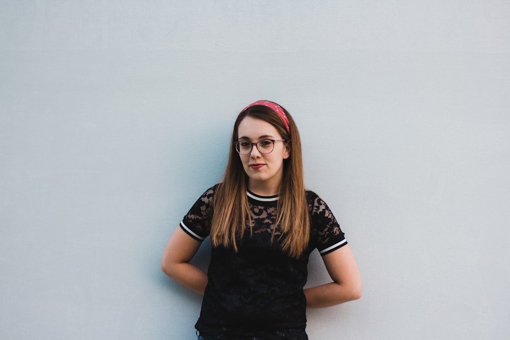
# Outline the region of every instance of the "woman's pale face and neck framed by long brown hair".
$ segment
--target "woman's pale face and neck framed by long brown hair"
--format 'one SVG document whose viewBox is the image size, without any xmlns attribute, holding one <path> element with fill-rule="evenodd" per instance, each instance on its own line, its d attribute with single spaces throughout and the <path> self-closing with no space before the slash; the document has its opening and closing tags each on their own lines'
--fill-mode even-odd
<svg viewBox="0 0 510 340">
<path fill-rule="evenodd" d="M 256 143 L 261 140 L 279 140 L 282 136 L 270 123 L 252 117 L 245 117 L 239 123 L 238 140 Z M 274 142 L 273 151 L 261 153 L 253 145 L 251 153 L 240 154 L 244 171 L 249 177 L 248 189 L 260 195 L 274 195 L 282 181 L 284 160 L 290 156 L 287 142 Z M 259 192 L 257 192 L 259 191 Z"/>
</svg>

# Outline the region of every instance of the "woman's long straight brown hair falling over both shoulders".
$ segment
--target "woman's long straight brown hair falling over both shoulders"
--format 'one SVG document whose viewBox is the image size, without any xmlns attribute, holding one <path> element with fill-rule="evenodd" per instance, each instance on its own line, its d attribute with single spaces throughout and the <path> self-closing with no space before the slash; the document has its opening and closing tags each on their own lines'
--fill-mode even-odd
<svg viewBox="0 0 510 340">
<path fill-rule="evenodd" d="M 290 147 L 290 157 L 284 160 L 283 178 L 278 189 L 275 226 L 282 232 L 279 240 L 281 248 L 291 257 L 298 258 L 307 247 L 310 237 L 310 217 L 304 189 L 303 160 L 301 141 L 297 126 L 284 108 L 289 119 L 290 134 L 282 119 L 270 108 L 256 105 L 242 111 L 236 119 L 232 132 L 232 141 L 228 163 L 223 181 L 218 184 L 213 201 L 213 219 L 211 223 L 211 242 L 213 246 L 232 246 L 238 250 L 236 237 L 241 238 L 248 223 L 251 230 L 246 190 L 248 175 L 236 151 L 234 143 L 238 141 L 238 128 L 241 121 L 250 116 L 273 125 Z M 274 239 L 275 230 L 271 240 Z"/>
</svg>

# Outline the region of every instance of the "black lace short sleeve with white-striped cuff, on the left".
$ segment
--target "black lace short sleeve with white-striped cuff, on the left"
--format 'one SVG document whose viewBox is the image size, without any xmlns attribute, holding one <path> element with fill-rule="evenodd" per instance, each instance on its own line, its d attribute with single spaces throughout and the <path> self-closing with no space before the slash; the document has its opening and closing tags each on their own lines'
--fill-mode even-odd
<svg viewBox="0 0 510 340">
<path fill-rule="evenodd" d="M 200 196 L 184 216 L 181 228 L 193 239 L 203 241 L 211 232 L 212 202 L 216 186 Z"/>
</svg>

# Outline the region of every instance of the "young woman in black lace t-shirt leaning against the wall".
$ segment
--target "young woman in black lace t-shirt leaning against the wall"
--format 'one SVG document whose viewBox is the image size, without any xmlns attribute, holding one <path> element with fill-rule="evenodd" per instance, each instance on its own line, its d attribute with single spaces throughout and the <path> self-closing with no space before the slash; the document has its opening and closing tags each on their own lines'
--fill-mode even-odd
<svg viewBox="0 0 510 340">
<path fill-rule="evenodd" d="M 190 264 L 211 238 L 208 273 Z M 317 248 L 333 282 L 303 290 Z M 308 339 L 305 309 L 359 299 L 358 266 L 326 203 L 303 183 L 294 120 L 260 100 L 237 117 L 223 181 L 173 232 L 161 269 L 203 295 L 199 340 Z"/>
</svg>

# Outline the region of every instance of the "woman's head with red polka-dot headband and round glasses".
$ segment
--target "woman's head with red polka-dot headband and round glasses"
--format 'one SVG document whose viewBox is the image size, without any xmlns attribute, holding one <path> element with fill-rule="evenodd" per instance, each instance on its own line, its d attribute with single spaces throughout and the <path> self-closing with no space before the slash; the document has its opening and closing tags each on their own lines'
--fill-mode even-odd
<svg viewBox="0 0 510 340">
<path fill-rule="evenodd" d="M 275 140 L 271 153 L 261 153 L 260 144 L 259 148 L 253 146 L 246 155 L 236 150 L 239 141 L 256 143 L 263 140 Z M 278 166 L 274 163 L 278 157 L 283 162 L 281 171 L 274 168 Z M 250 167 L 259 163 L 263 165 L 259 169 Z M 282 185 L 295 182 L 296 178 L 289 177 L 298 176 L 302 181 L 301 141 L 297 126 L 287 110 L 270 101 L 257 101 L 243 109 L 236 119 L 225 175 L 245 181 L 247 185 L 250 178 L 264 180 L 269 176 L 274 180 L 273 174 L 283 179 L 277 180 Z"/>
</svg>

